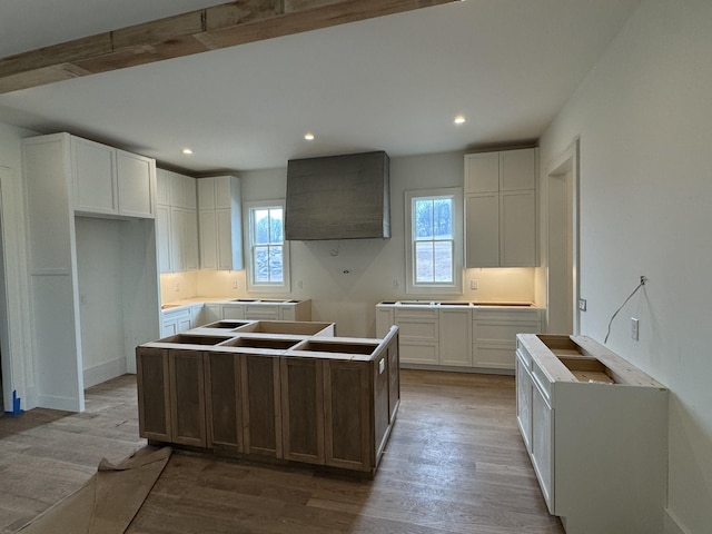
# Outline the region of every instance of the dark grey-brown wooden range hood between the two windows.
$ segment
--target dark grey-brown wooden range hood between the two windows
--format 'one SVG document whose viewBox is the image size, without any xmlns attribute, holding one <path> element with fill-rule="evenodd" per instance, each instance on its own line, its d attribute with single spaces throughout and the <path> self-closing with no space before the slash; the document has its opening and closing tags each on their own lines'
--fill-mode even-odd
<svg viewBox="0 0 712 534">
<path fill-rule="evenodd" d="M 285 208 L 287 240 L 390 237 L 388 155 L 290 159 Z"/>
</svg>

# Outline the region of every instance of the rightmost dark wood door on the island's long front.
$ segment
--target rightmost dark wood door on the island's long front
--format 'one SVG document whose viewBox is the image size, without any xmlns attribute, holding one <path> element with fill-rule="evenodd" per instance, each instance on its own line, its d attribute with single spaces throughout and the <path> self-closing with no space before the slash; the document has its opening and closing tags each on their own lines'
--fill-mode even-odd
<svg viewBox="0 0 712 534">
<path fill-rule="evenodd" d="M 326 465 L 364 472 L 374 467 L 372 364 L 324 360 Z"/>
</svg>

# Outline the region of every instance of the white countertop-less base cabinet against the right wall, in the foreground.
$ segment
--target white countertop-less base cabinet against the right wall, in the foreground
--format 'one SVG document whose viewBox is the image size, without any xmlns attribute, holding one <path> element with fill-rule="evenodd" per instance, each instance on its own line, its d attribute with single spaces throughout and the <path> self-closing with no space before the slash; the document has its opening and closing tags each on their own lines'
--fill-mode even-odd
<svg viewBox="0 0 712 534">
<path fill-rule="evenodd" d="M 567 534 L 662 534 L 668 390 L 585 336 L 517 335 L 517 422 Z"/>
</svg>

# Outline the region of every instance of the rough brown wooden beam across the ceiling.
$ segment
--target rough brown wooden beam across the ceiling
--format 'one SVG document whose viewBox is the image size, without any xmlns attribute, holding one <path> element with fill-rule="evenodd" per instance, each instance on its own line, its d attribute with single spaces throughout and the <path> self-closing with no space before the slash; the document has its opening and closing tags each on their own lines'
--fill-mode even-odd
<svg viewBox="0 0 712 534">
<path fill-rule="evenodd" d="M 2 58 L 0 93 L 453 1 L 238 0 Z"/>
</svg>

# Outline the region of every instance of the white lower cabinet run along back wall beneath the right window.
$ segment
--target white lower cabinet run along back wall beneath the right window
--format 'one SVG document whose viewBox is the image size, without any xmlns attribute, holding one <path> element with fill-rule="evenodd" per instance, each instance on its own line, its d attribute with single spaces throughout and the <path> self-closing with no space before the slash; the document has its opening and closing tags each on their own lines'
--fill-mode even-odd
<svg viewBox="0 0 712 534">
<path fill-rule="evenodd" d="M 380 303 L 376 336 L 392 325 L 400 333 L 400 363 L 511 374 L 516 335 L 541 330 L 541 309 L 469 303 Z"/>
</svg>

